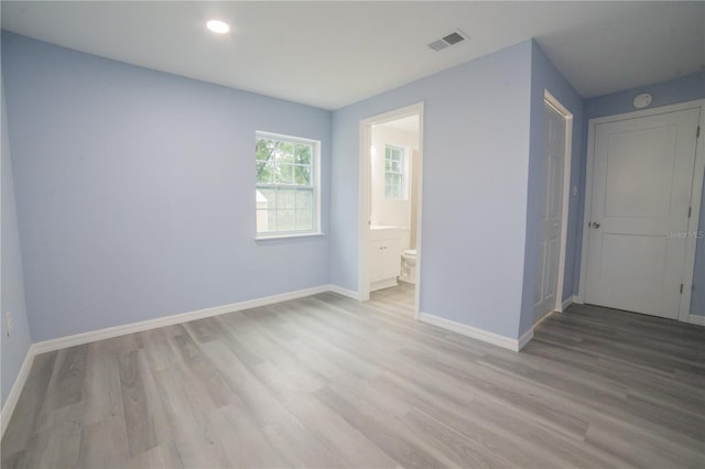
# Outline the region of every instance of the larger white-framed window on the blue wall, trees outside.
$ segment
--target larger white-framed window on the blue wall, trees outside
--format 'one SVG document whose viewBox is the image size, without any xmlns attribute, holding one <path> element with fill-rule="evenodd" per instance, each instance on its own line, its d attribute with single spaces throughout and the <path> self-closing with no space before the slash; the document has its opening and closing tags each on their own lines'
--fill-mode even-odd
<svg viewBox="0 0 705 469">
<path fill-rule="evenodd" d="M 319 233 L 321 142 L 257 132 L 257 237 Z"/>
</svg>

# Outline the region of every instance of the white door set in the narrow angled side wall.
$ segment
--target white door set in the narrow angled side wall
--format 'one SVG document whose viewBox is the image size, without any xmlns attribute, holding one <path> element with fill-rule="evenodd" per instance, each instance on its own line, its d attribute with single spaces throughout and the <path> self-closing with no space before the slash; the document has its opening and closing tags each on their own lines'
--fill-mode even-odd
<svg viewBox="0 0 705 469">
<path fill-rule="evenodd" d="M 534 320 L 551 313 L 556 305 L 563 226 L 566 119 L 549 102 L 545 102 L 544 107 L 543 193 L 541 196 L 536 282 L 534 284 Z"/>
</svg>

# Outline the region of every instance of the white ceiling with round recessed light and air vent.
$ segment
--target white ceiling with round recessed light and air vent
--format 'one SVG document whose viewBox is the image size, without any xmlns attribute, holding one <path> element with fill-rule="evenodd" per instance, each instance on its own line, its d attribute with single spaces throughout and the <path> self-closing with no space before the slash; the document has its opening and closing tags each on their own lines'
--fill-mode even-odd
<svg viewBox="0 0 705 469">
<path fill-rule="evenodd" d="M 337 109 L 535 37 L 584 97 L 705 69 L 705 2 L 1 2 L 2 28 Z M 212 18 L 232 31 L 205 30 Z M 470 41 L 435 53 L 456 28 Z"/>
</svg>

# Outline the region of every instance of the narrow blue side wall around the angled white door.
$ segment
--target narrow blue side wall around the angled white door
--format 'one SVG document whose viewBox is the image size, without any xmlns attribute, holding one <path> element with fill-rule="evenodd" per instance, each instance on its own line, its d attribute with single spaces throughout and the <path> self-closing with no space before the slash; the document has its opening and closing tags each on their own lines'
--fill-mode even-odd
<svg viewBox="0 0 705 469">
<path fill-rule="evenodd" d="M 551 61 L 535 42 L 531 48 L 531 144 L 529 153 L 529 187 L 527 208 L 527 248 L 524 260 L 524 287 L 521 307 L 520 334 L 529 330 L 534 323 L 533 317 L 533 288 L 538 281 L 536 253 L 539 252 L 539 236 L 541 226 L 539 222 L 541 214 L 542 194 L 542 165 L 544 152 L 544 91 L 547 90 L 573 114 L 573 137 L 572 137 L 572 164 L 571 164 L 571 187 L 582 185 L 582 156 L 584 141 L 584 101 L 581 95 L 568 84 L 563 75 L 556 70 Z M 572 193 L 571 193 L 572 194 Z M 579 199 L 577 196 L 570 196 L 568 199 L 568 222 L 566 237 L 565 274 L 563 299 L 573 295 L 574 270 L 576 253 L 579 253 L 581 240 L 578 232 Z"/>
</svg>

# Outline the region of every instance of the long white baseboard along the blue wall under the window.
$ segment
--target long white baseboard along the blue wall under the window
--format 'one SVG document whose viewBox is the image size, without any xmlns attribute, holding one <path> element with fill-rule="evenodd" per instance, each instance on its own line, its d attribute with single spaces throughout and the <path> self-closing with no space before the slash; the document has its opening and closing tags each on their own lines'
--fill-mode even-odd
<svg viewBox="0 0 705 469">
<path fill-rule="evenodd" d="M 318 293 L 328 292 L 329 285 L 316 286 L 313 288 L 299 290 L 295 292 L 282 293 L 279 295 L 264 296 L 262 298 L 248 299 L 245 302 L 231 303 L 229 305 L 215 306 L 212 308 L 196 309 L 189 313 L 175 314 L 171 316 L 159 317 L 156 319 L 141 320 L 121 326 L 108 327 L 99 330 L 76 334 L 74 336 L 58 337 L 56 339 L 44 340 L 33 345 L 36 353 L 45 353 L 47 351 L 61 350 L 68 347 L 80 346 L 84 343 L 95 342 L 96 340 L 110 339 L 112 337 L 124 336 L 127 334 L 142 332 L 144 330 L 155 329 L 158 327 L 172 326 L 175 324 L 188 323 L 189 320 L 203 319 L 206 317 L 218 316 L 226 313 L 232 313 L 242 309 L 256 308 L 258 306 L 267 306 L 274 303 L 286 302 L 289 299 L 302 298 L 304 296 L 316 295 Z"/>
</svg>

